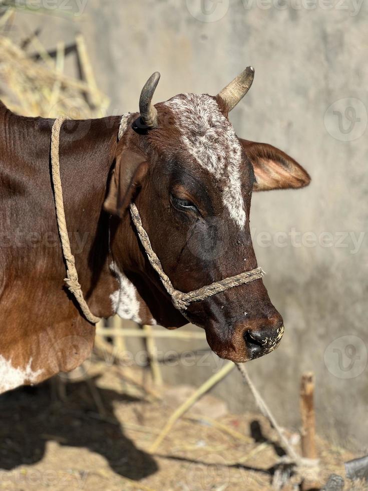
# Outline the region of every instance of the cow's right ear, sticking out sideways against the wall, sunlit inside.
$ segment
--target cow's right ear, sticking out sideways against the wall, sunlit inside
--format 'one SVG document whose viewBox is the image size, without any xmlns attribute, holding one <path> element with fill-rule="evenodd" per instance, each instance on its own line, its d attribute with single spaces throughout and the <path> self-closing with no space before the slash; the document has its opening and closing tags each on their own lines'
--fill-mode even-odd
<svg viewBox="0 0 368 491">
<path fill-rule="evenodd" d="M 293 158 L 267 143 L 242 140 L 240 143 L 253 164 L 253 191 L 297 189 L 310 182 L 308 172 Z"/>
</svg>

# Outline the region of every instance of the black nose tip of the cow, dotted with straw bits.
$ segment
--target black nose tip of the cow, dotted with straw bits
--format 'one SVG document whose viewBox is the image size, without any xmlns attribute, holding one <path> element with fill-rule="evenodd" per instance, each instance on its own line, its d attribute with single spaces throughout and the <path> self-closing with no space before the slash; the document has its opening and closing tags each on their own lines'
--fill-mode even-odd
<svg viewBox="0 0 368 491">
<path fill-rule="evenodd" d="M 283 333 L 282 322 L 273 327 L 245 331 L 243 338 L 251 358 L 258 358 L 277 348 Z"/>
</svg>

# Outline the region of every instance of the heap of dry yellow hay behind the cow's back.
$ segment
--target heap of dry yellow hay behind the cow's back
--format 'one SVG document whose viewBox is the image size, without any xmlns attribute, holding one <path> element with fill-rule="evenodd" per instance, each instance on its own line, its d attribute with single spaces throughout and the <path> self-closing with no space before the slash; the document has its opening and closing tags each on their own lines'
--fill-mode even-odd
<svg viewBox="0 0 368 491">
<path fill-rule="evenodd" d="M 83 44 L 81 39 L 79 43 Z M 86 81 L 63 74 L 64 47 L 61 43 L 57 47 L 56 62 L 37 38 L 32 40 L 32 45 L 39 60 L 31 58 L 11 39 L 0 36 L 0 80 L 2 88 L 5 86 L 6 89 L 0 98 L 4 103 L 26 116 L 102 117 L 109 100 L 96 86 L 85 44 L 80 62 L 83 72 L 88 74 Z M 86 94 L 93 101 L 93 107 Z"/>
</svg>

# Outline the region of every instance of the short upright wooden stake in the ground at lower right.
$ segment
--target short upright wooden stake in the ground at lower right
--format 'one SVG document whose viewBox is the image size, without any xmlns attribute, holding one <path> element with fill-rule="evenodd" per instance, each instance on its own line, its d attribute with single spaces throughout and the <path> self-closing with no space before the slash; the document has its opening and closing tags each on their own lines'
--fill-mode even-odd
<svg viewBox="0 0 368 491">
<path fill-rule="evenodd" d="M 300 384 L 301 453 L 307 458 L 317 458 L 313 392 L 313 373 L 303 373 Z"/>
</svg>

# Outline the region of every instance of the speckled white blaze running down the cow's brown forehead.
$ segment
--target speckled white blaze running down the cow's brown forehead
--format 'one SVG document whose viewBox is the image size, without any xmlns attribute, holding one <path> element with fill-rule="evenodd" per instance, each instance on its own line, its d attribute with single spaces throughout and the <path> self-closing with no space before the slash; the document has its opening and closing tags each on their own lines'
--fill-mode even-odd
<svg viewBox="0 0 368 491">
<path fill-rule="evenodd" d="M 182 94 L 164 103 L 175 114 L 181 140 L 190 155 L 216 180 L 225 182 L 222 201 L 242 230 L 241 146 L 216 101 L 206 95 Z"/>
</svg>

